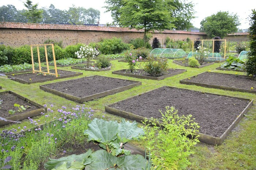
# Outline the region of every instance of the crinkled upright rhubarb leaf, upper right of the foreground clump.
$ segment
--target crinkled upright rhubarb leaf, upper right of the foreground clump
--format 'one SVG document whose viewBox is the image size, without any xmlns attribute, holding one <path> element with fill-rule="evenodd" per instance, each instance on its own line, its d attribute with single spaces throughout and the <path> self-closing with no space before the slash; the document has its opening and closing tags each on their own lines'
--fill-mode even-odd
<svg viewBox="0 0 256 170">
<path fill-rule="evenodd" d="M 118 129 L 118 137 L 123 143 L 131 141 L 132 139 L 138 140 L 140 136 L 144 135 L 143 129 L 138 127 L 136 121 L 130 123 L 123 119 L 121 123 L 118 123 Z"/>
</svg>

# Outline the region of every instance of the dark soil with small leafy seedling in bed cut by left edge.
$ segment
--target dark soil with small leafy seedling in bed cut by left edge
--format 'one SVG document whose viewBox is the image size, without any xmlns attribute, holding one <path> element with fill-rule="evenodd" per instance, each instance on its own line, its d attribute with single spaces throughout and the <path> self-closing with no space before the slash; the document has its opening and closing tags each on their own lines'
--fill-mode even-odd
<svg viewBox="0 0 256 170">
<path fill-rule="evenodd" d="M 15 115 L 26 113 L 32 110 L 39 109 L 39 107 L 34 106 L 33 104 L 26 102 L 13 94 L 9 94 L 9 93 L 2 94 L 0 95 L 0 99 L 3 100 L 2 104 L 0 105 L 1 106 L 0 117 L 3 117 L 3 118 L 8 118 L 11 116 L 15 116 Z M 18 110 L 18 107 L 14 107 L 15 103 L 24 107 L 27 105 L 27 106 L 30 106 L 30 108 L 27 108 L 25 111 L 18 112 L 16 111 Z M 15 110 L 16 112 L 13 115 L 11 115 L 8 113 L 9 110 Z"/>
</svg>

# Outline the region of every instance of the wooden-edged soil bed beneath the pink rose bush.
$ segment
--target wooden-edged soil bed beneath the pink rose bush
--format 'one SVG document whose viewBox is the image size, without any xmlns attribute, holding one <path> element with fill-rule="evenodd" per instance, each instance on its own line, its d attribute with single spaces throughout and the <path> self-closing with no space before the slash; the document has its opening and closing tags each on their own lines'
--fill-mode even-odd
<svg viewBox="0 0 256 170">
<path fill-rule="evenodd" d="M 134 74 L 130 72 L 130 70 L 117 70 L 117 71 L 112 71 L 112 74 L 118 74 L 122 76 L 129 76 L 129 77 L 135 77 L 135 78 L 140 78 L 140 79 L 151 79 L 151 80 L 162 80 L 167 77 L 171 77 L 177 74 L 181 74 L 182 72 L 185 72 L 187 70 L 182 70 L 182 69 L 168 69 L 168 72 L 166 74 L 163 74 L 159 77 L 153 77 L 148 75 L 145 71 L 136 69 Z"/>
</svg>

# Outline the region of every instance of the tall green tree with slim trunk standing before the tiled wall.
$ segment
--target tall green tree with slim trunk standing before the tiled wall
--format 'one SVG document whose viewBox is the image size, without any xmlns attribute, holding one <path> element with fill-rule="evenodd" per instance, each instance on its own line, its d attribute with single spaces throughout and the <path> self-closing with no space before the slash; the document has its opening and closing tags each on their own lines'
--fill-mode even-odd
<svg viewBox="0 0 256 170">
<path fill-rule="evenodd" d="M 144 29 L 144 43 L 146 33 L 154 30 L 171 29 L 170 11 L 167 10 L 165 0 L 124 0 L 125 5 L 120 9 L 119 24 L 124 27 Z"/>
</svg>

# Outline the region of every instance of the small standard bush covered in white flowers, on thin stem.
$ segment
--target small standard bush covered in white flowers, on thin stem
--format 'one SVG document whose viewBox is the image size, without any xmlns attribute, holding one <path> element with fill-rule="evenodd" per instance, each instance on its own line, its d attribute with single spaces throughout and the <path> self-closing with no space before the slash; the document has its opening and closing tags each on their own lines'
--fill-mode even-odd
<svg viewBox="0 0 256 170">
<path fill-rule="evenodd" d="M 77 58 L 86 58 L 87 61 L 87 67 L 89 68 L 89 63 L 91 58 L 94 58 L 99 55 L 99 52 L 96 50 L 96 48 L 92 48 L 86 44 L 83 44 L 83 46 L 80 47 L 79 51 L 75 52 L 77 55 Z"/>
</svg>

